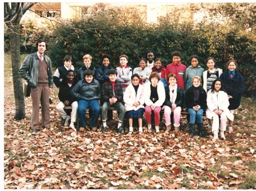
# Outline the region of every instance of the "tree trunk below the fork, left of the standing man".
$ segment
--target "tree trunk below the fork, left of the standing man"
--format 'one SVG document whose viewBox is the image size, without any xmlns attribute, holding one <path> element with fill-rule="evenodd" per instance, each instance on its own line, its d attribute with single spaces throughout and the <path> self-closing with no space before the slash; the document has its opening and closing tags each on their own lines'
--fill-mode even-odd
<svg viewBox="0 0 256 191">
<path fill-rule="evenodd" d="M 23 95 L 22 78 L 19 76 L 19 67 L 21 66 L 20 36 L 17 25 L 9 25 L 10 49 L 11 49 L 11 68 L 12 80 L 14 83 L 15 98 L 15 119 L 21 120 L 25 118 L 25 103 Z"/>
</svg>

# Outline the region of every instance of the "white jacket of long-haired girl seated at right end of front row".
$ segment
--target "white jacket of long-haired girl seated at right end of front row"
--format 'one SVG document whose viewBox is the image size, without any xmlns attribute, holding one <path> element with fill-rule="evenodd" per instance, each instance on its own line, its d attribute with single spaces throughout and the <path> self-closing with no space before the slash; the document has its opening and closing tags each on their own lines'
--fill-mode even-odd
<svg viewBox="0 0 256 191">
<path fill-rule="evenodd" d="M 212 119 L 213 117 L 213 110 L 223 110 L 227 116 L 227 118 L 231 121 L 234 120 L 234 115 L 230 113 L 230 110 L 228 110 L 228 106 L 230 105 L 227 97 L 227 93 L 224 91 L 219 91 L 218 97 L 217 93 L 214 91 L 212 93 L 212 90 L 209 90 L 207 93 L 207 109 L 206 109 L 206 117 L 208 119 Z"/>
</svg>

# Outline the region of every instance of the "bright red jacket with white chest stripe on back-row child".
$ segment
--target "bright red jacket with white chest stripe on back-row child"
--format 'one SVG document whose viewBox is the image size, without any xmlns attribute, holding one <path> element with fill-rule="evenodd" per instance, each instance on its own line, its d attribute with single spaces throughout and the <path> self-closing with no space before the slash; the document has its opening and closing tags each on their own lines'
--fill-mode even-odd
<svg viewBox="0 0 256 191">
<path fill-rule="evenodd" d="M 184 64 L 181 64 L 181 62 L 179 62 L 177 65 L 175 65 L 174 63 L 168 64 L 166 66 L 166 82 L 168 75 L 170 73 L 174 73 L 177 76 L 177 85 L 180 86 L 182 90 L 184 90 L 184 74 L 186 68 L 187 67 Z"/>
</svg>

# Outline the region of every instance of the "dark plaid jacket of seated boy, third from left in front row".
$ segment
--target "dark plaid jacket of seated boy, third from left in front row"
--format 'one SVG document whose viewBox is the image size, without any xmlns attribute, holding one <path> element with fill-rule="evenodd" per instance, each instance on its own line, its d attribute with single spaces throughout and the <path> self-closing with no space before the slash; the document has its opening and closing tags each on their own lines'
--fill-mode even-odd
<svg viewBox="0 0 256 191">
<path fill-rule="evenodd" d="M 118 81 L 116 81 L 116 83 L 114 84 L 114 94 L 116 95 L 115 97 L 117 98 L 117 101 L 123 101 L 123 86 Z M 112 84 L 110 83 L 110 81 L 106 81 L 102 86 L 103 100 L 109 101 L 109 99 L 113 96 L 114 95 L 112 91 Z"/>
</svg>

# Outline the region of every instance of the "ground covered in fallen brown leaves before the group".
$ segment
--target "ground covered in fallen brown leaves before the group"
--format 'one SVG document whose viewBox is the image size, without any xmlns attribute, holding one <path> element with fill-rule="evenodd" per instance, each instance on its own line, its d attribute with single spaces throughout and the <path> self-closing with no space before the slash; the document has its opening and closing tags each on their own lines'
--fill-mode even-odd
<svg viewBox="0 0 256 191">
<path fill-rule="evenodd" d="M 115 121 L 104 133 L 76 133 L 60 125 L 54 110 L 51 129 L 33 133 L 31 109 L 15 121 L 14 103 L 6 98 L 4 188 L 255 188 L 255 103 L 243 103 L 247 109 L 239 108 L 234 133 L 214 142 L 211 134 L 190 138 L 186 119 L 179 133 L 118 134 Z"/>
</svg>

